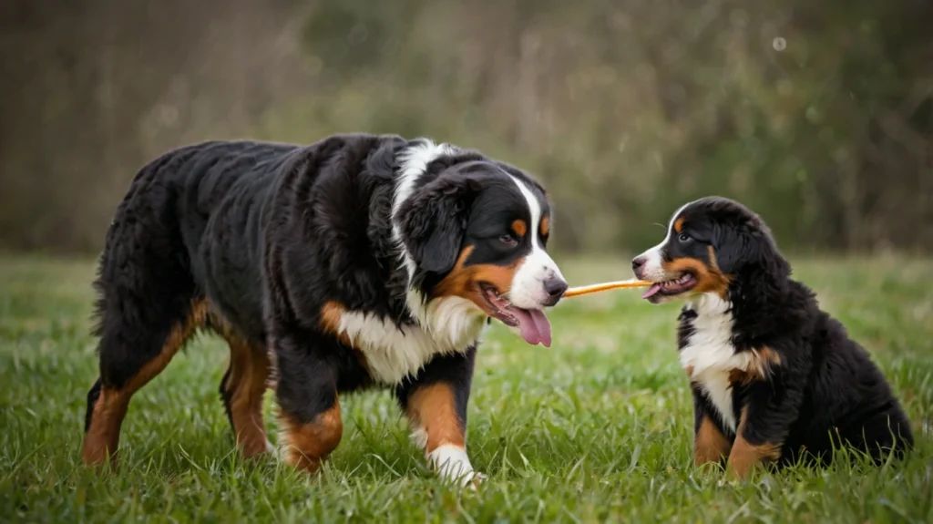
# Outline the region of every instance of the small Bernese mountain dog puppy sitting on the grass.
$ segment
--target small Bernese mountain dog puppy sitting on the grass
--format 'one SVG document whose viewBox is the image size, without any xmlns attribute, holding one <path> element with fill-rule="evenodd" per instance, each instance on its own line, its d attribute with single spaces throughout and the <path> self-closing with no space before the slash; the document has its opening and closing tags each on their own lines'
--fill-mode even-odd
<svg viewBox="0 0 933 524">
<path fill-rule="evenodd" d="M 685 298 L 677 342 L 693 392 L 694 462 L 831 462 L 842 445 L 881 462 L 912 448 L 910 422 L 869 353 L 819 309 L 757 214 L 696 200 L 634 258 L 644 298 Z"/>
</svg>

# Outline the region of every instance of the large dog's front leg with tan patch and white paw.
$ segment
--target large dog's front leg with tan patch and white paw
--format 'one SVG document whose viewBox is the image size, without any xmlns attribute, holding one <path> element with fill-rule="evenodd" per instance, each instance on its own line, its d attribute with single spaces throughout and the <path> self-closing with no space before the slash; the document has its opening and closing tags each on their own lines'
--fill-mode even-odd
<svg viewBox="0 0 933 524">
<path fill-rule="evenodd" d="M 411 437 L 428 466 L 447 481 L 477 484 L 480 474 L 466 456 L 466 403 L 476 349 L 436 357 L 413 379 L 398 385 L 398 402 L 411 422 Z"/>
</svg>

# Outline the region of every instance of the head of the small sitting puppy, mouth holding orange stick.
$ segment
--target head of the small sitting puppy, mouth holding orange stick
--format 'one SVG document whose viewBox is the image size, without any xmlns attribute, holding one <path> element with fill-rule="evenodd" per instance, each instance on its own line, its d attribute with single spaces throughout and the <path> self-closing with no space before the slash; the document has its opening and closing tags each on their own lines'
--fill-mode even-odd
<svg viewBox="0 0 933 524">
<path fill-rule="evenodd" d="M 789 274 L 759 216 L 719 197 L 677 210 L 664 240 L 636 256 L 632 269 L 637 278 L 654 283 L 643 296 L 654 304 L 701 293 L 726 298 L 730 284 L 749 271 L 778 279 Z"/>
</svg>

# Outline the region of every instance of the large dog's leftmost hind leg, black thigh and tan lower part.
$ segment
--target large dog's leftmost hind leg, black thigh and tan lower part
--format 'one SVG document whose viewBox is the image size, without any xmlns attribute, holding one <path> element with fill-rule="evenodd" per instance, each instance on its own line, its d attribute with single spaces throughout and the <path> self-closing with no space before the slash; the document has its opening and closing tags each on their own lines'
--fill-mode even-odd
<svg viewBox="0 0 933 524">
<path fill-rule="evenodd" d="M 81 449 L 87 464 L 116 453 L 132 394 L 168 365 L 206 318 L 177 221 L 155 209 L 166 206 L 158 200 L 164 188 L 137 187 L 145 183 L 138 179 L 120 204 L 94 284 L 100 375 L 88 393 Z"/>
</svg>

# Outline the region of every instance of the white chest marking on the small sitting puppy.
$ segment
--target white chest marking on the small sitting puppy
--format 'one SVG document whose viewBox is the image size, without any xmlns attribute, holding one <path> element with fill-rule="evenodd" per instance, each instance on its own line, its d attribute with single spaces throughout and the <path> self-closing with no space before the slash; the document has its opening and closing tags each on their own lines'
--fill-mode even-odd
<svg viewBox="0 0 933 524">
<path fill-rule="evenodd" d="M 688 305 L 696 311 L 693 334 L 680 350 L 680 365 L 691 369 L 691 381 L 699 384 L 709 402 L 716 407 L 719 419 L 735 431 L 735 408 L 732 406 L 733 369 L 747 370 L 754 360 L 752 352 L 736 353 L 732 345 L 731 303 L 715 293 L 698 296 Z"/>
</svg>

